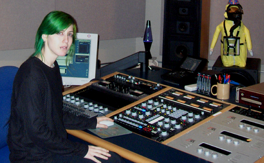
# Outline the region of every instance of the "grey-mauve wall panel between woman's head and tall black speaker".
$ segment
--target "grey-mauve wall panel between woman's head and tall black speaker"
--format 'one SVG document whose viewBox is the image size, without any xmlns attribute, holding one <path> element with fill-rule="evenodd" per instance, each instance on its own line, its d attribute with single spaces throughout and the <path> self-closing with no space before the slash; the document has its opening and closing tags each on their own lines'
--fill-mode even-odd
<svg viewBox="0 0 264 163">
<path fill-rule="evenodd" d="M 144 36 L 146 1 L 56 0 L 56 10 L 71 14 L 81 33 L 98 34 L 100 40 Z"/>
</svg>

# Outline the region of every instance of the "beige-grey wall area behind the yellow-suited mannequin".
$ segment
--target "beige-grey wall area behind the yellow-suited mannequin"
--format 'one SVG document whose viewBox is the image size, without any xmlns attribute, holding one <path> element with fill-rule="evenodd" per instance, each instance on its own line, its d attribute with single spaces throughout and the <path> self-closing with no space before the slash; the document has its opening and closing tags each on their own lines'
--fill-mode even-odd
<svg viewBox="0 0 264 163">
<path fill-rule="evenodd" d="M 213 39 L 216 27 L 222 21 L 224 21 L 225 6 L 228 0 L 213 0 L 210 4 L 210 31 L 209 31 L 209 47 Z M 261 59 L 261 64 L 264 64 L 264 19 L 263 19 L 263 0 L 247 1 L 239 0 L 240 5 L 243 7 L 244 15 L 242 16 L 242 21 L 244 25 L 249 29 L 252 41 L 252 49 L 254 52 L 254 57 L 251 57 L 248 52 L 248 58 L 259 58 Z M 212 56 L 208 56 L 208 60 L 217 60 L 220 56 L 220 42 L 221 34 L 218 38 L 218 42 L 214 48 Z"/>
</svg>

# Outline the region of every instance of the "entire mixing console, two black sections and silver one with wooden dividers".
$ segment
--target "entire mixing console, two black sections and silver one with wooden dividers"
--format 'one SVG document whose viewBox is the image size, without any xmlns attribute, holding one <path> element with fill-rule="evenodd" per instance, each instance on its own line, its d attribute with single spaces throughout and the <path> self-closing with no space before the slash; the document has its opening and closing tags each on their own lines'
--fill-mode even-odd
<svg viewBox="0 0 264 163">
<path fill-rule="evenodd" d="M 65 94 L 63 105 L 76 116 L 106 115 L 143 137 L 210 162 L 248 163 L 264 155 L 263 112 L 126 74 L 116 72 Z"/>
</svg>

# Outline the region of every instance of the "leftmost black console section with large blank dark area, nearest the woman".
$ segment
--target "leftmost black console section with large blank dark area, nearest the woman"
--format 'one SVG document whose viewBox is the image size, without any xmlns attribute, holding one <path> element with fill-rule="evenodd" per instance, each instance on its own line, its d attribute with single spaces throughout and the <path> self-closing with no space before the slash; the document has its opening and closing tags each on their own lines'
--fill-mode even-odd
<svg viewBox="0 0 264 163">
<path fill-rule="evenodd" d="M 63 109 L 87 118 L 107 115 L 164 88 L 130 75 L 115 74 L 65 95 Z"/>
</svg>

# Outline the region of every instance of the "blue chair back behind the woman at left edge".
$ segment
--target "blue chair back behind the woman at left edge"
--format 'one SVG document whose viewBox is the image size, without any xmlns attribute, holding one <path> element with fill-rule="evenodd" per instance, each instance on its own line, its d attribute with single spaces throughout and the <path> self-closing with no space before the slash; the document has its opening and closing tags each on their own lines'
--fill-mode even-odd
<svg viewBox="0 0 264 163">
<path fill-rule="evenodd" d="M 10 116 L 12 87 L 17 70 L 14 66 L 0 67 L 0 161 L 4 163 L 10 162 L 6 123 Z"/>
</svg>

